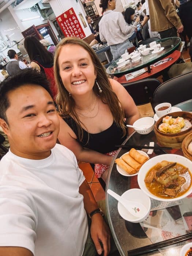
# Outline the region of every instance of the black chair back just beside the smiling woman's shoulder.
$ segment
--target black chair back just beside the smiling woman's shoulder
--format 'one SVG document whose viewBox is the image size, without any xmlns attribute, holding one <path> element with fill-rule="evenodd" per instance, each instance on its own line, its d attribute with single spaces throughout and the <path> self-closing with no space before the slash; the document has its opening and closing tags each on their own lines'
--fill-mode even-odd
<svg viewBox="0 0 192 256">
<path fill-rule="evenodd" d="M 161 84 L 158 79 L 147 78 L 139 81 L 122 84 L 133 98 L 137 106 L 149 103 L 155 89 Z"/>
</svg>

